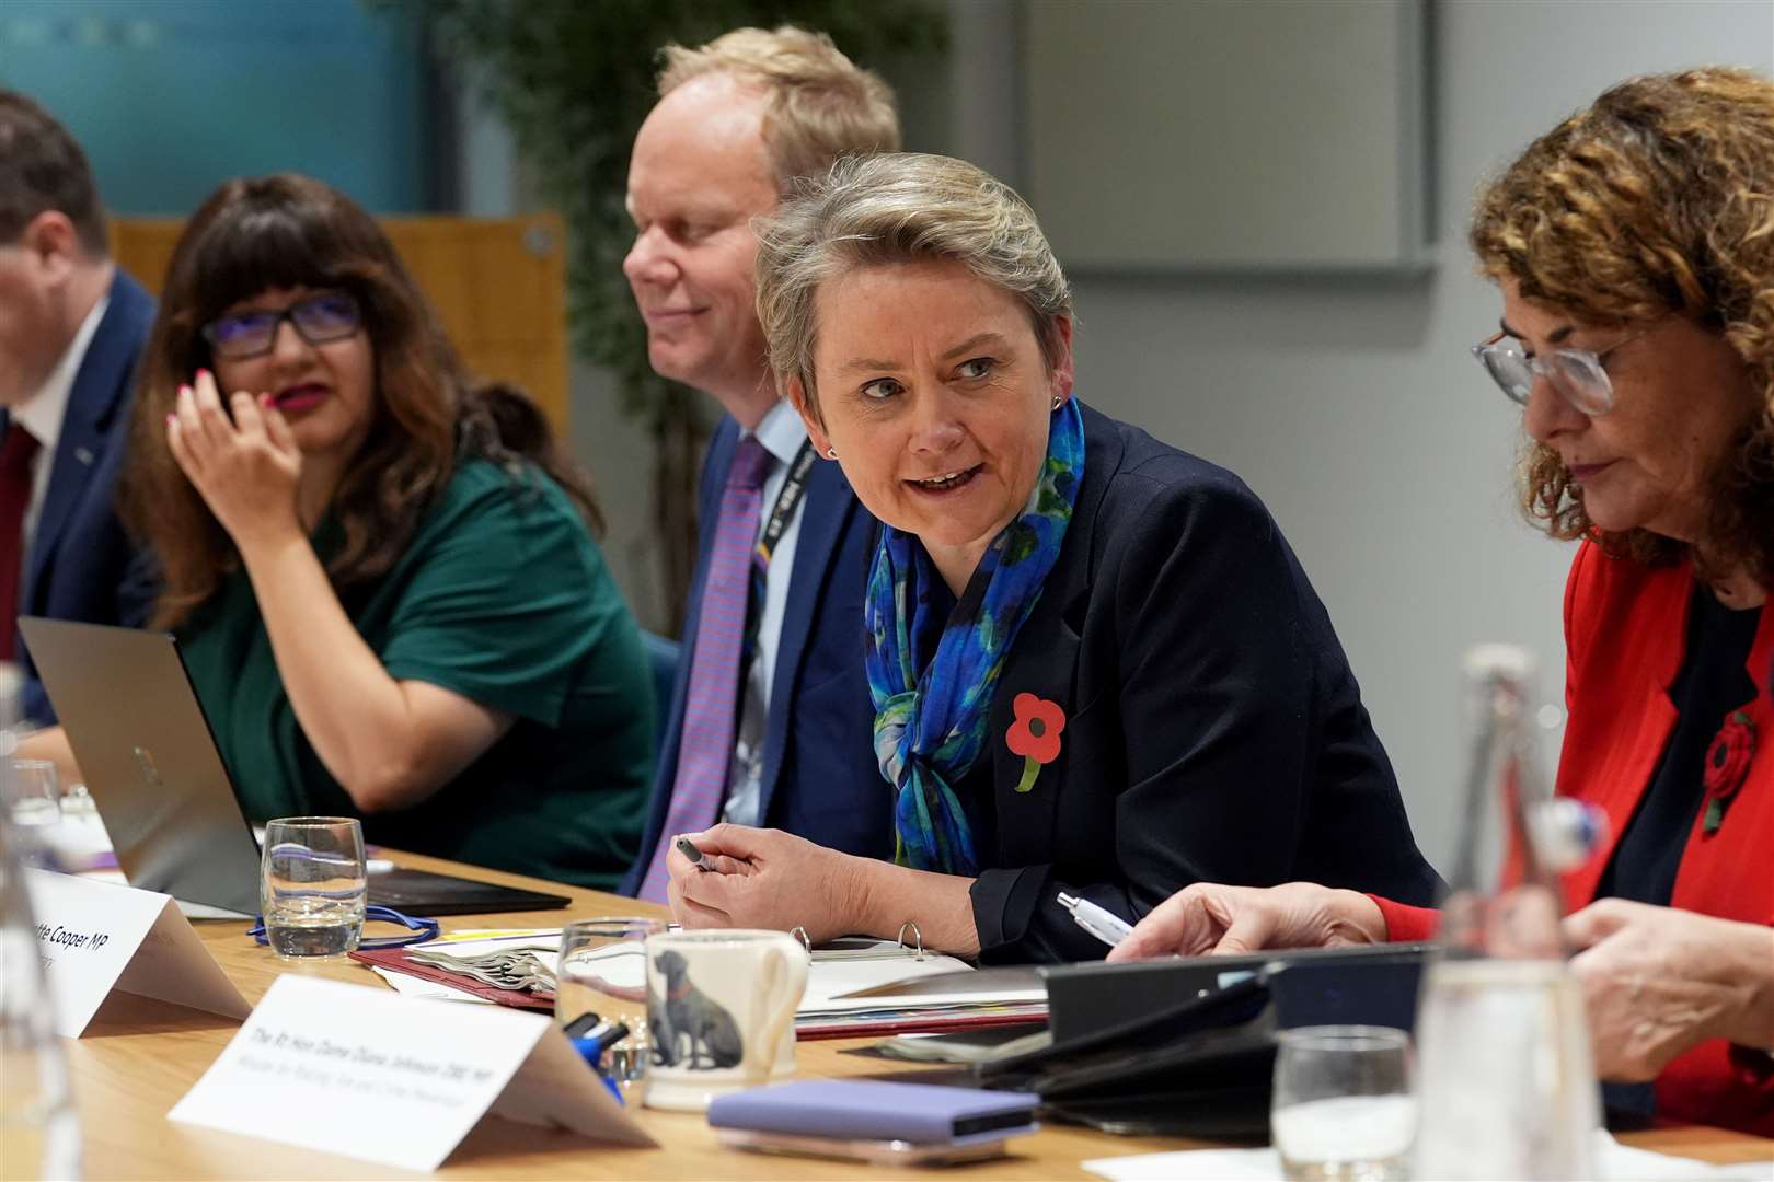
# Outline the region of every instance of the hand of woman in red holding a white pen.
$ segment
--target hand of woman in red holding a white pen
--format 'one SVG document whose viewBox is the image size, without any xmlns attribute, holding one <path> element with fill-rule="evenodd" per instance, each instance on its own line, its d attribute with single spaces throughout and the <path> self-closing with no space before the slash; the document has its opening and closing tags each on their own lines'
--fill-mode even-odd
<svg viewBox="0 0 1774 1182">
<path fill-rule="evenodd" d="M 1111 960 L 1199 957 L 1261 948 L 1334 948 L 1385 941 L 1380 906 L 1359 891 L 1316 883 L 1222 886 L 1194 883 L 1176 891 L 1109 950 Z"/>
</svg>

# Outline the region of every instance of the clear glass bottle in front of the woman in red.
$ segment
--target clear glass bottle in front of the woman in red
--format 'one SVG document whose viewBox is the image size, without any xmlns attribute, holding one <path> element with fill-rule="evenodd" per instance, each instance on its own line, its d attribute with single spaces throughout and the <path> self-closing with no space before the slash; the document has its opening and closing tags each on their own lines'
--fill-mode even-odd
<svg viewBox="0 0 1774 1182">
<path fill-rule="evenodd" d="M 1414 1173 L 1593 1178 L 1600 1102 L 1558 888 L 1586 819 L 1552 805 L 1535 762 L 1529 654 L 1474 649 L 1465 679 L 1471 771 L 1442 948 L 1417 1012 Z"/>
</svg>

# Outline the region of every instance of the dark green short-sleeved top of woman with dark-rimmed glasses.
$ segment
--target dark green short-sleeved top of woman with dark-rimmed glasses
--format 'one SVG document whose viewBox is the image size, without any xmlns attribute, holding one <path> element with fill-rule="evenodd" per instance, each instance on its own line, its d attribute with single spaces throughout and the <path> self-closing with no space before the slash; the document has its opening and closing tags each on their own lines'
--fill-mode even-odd
<svg viewBox="0 0 1774 1182">
<path fill-rule="evenodd" d="M 314 533 L 325 560 L 341 540 Z M 653 776 L 640 633 L 571 500 L 536 468 L 463 461 L 406 551 L 341 595 L 390 677 L 516 716 L 431 797 L 364 817 L 367 842 L 612 890 Z M 254 824 L 357 817 L 296 723 L 247 574 L 179 631 L 192 682 Z"/>
</svg>

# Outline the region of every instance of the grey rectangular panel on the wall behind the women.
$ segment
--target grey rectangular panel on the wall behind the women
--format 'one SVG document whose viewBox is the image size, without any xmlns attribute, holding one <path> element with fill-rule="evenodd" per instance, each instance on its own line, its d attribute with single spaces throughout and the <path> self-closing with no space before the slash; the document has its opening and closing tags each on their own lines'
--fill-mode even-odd
<svg viewBox="0 0 1774 1182">
<path fill-rule="evenodd" d="M 1421 0 L 1031 0 L 1027 181 L 1071 269 L 1414 269 Z"/>
</svg>

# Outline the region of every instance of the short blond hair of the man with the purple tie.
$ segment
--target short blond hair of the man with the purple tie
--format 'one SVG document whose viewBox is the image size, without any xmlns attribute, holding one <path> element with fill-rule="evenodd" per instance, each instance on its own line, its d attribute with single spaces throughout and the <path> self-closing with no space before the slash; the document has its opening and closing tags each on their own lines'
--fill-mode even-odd
<svg viewBox="0 0 1774 1182">
<path fill-rule="evenodd" d="M 770 92 L 763 136 L 781 190 L 839 156 L 899 151 L 892 89 L 825 34 L 793 25 L 734 28 L 694 50 L 669 44 L 660 57 L 660 97 L 717 73 Z"/>
</svg>

